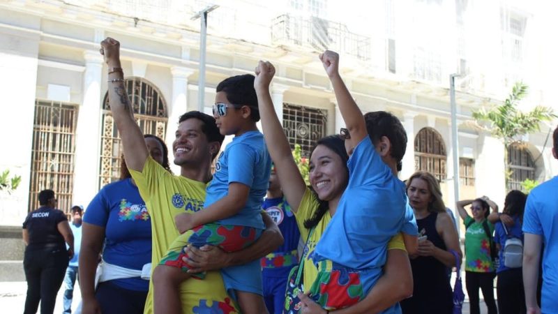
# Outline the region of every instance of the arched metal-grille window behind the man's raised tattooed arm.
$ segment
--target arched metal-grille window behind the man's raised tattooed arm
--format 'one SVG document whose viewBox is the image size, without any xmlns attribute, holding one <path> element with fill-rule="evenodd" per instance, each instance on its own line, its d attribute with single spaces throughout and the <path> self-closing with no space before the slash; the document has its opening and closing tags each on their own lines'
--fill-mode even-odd
<svg viewBox="0 0 558 314">
<path fill-rule="evenodd" d="M 153 134 L 165 140 L 167 105 L 163 95 L 153 84 L 139 77 L 126 79 L 126 91 L 133 107 L 134 117 L 144 134 Z M 99 188 L 118 181 L 122 144 L 110 112 L 108 93 L 103 100 L 103 129 L 101 130 Z"/>
</svg>

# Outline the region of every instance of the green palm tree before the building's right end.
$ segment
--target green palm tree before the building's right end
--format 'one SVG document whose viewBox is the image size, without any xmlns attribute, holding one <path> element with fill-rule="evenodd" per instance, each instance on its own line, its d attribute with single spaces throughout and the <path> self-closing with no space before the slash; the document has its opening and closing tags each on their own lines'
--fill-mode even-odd
<svg viewBox="0 0 558 314">
<path fill-rule="evenodd" d="M 518 110 L 518 102 L 527 95 L 527 85 L 517 82 L 511 94 L 499 106 L 486 110 L 481 108 L 473 112 L 475 126 L 486 130 L 504 142 L 504 165 L 506 166 L 506 186 L 513 173 L 509 167 L 508 149 L 512 144 L 522 144 L 521 136 L 541 130 L 542 121 L 550 121 L 556 117 L 552 108 L 536 106 L 530 112 Z M 481 124 L 482 121 L 488 122 Z"/>
</svg>

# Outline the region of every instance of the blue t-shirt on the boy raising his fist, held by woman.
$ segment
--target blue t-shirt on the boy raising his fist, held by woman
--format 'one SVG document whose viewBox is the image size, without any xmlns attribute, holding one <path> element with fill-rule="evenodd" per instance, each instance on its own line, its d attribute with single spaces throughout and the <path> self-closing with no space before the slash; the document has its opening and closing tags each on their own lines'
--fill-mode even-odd
<svg viewBox="0 0 558 314">
<path fill-rule="evenodd" d="M 405 184 L 377 154 L 370 137 L 355 147 L 347 167 L 349 183 L 316 246 L 313 260 L 370 269 L 379 276 L 386 263 L 389 240 L 401 231 L 416 235 L 416 220 Z"/>
</svg>

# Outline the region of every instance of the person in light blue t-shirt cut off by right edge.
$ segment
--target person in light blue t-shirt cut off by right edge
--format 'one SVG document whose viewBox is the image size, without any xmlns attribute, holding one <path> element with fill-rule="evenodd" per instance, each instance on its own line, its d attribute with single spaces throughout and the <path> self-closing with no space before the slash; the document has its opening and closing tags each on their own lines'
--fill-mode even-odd
<svg viewBox="0 0 558 314">
<path fill-rule="evenodd" d="M 552 134 L 552 156 L 558 159 L 558 128 Z M 523 284 L 527 313 L 558 313 L 558 177 L 536 186 L 529 196 L 523 216 Z M 543 251 L 541 307 L 536 301 L 538 262 Z"/>
</svg>

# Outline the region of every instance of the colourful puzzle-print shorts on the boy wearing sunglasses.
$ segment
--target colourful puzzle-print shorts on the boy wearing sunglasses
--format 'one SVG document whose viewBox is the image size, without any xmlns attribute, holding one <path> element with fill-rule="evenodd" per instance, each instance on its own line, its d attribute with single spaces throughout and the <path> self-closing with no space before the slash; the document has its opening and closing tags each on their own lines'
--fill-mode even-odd
<svg viewBox="0 0 558 314">
<path fill-rule="evenodd" d="M 182 257 L 188 257 L 183 250 L 188 244 L 198 248 L 209 244 L 218 246 L 225 252 L 235 252 L 254 243 L 259 237 L 260 231 L 243 225 L 218 225 L 217 223 L 200 225 L 176 237 L 159 264 L 177 267 L 186 272 L 191 267 L 182 260 Z M 205 274 L 193 274 L 192 276 L 202 279 Z"/>
</svg>

